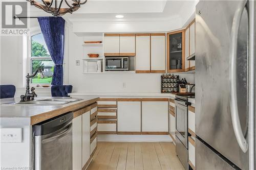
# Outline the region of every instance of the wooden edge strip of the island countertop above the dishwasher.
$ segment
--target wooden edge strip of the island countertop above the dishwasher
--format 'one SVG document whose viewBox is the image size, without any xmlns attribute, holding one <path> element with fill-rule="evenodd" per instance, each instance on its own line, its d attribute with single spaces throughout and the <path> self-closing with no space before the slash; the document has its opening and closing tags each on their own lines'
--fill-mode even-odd
<svg viewBox="0 0 256 170">
<path fill-rule="evenodd" d="M 88 101 L 83 101 L 83 102 L 79 102 L 79 103 L 76 103 L 76 104 L 71 104 L 70 106 L 58 108 L 58 109 L 55 109 L 55 110 L 52 110 L 52 111 L 48 111 L 48 112 L 45 112 L 45 113 L 41 113 L 41 114 L 31 116 L 30 117 L 30 125 L 38 124 L 38 123 L 43 122 L 47 119 L 53 118 L 55 116 L 58 116 L 58 115 L 61 115 L 61 114 L 67 113 L 67 112 L 72 112 L 72 111 L 75 111 L 75 110 L 79 110 L 81 108 L 84 108 L 88 105 L 91 105 L 91 104 L 97 102 L 98 100 L 99 100 L 99 98 L 95 98 L 95 99 L 91 99 L 91 100 L 88 100 Z"/>
</svg>

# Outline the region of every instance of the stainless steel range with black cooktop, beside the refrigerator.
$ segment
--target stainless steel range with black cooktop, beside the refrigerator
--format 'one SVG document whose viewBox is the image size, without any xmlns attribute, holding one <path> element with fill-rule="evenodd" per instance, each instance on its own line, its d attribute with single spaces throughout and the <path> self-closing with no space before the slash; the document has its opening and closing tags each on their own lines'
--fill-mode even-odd
<svg viewBox="0 0 256 170">
<path fill-rule="evenodd" d="M 175 118 L 176 118 L 176 153 L 181 163 L 188 169 L 188 98 L 195 98 L 192 95 L 176 95 L 175 98 Z"/>
</svg>

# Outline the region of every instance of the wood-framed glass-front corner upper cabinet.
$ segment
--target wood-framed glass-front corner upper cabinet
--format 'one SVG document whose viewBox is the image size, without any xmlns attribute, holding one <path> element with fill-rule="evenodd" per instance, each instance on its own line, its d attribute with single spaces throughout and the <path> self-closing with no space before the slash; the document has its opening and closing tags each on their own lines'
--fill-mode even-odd
<svg viewBox="0 0 256 170">
<path fill-rule="evenodd" d="M 167 33 L 167 72 L 185 71 L 185 30 Z"/>
</svg>

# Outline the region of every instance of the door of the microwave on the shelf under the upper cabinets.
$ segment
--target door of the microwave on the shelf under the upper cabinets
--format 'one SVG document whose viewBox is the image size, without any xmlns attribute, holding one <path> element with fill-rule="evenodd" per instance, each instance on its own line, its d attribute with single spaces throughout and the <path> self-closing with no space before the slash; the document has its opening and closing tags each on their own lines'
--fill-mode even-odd
<svg viewBox="0 0 256 170">
<path fill-rule="evenodd" d="M 105 58 L 105 70 L 122 70 L 123 69 L 123 59 L 116 58 Z"/>
</svg>

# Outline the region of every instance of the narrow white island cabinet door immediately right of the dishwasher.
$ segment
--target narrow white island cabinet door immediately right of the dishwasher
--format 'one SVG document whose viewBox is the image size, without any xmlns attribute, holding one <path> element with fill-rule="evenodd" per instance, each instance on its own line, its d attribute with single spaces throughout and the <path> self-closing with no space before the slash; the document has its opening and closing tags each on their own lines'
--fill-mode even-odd
<svg viewBox="0 0 256 170">
<path fill-rule="evenodd" d="M 82 169 L 82 115 L 72 122 L 73 170 Z"/>
</svg>

